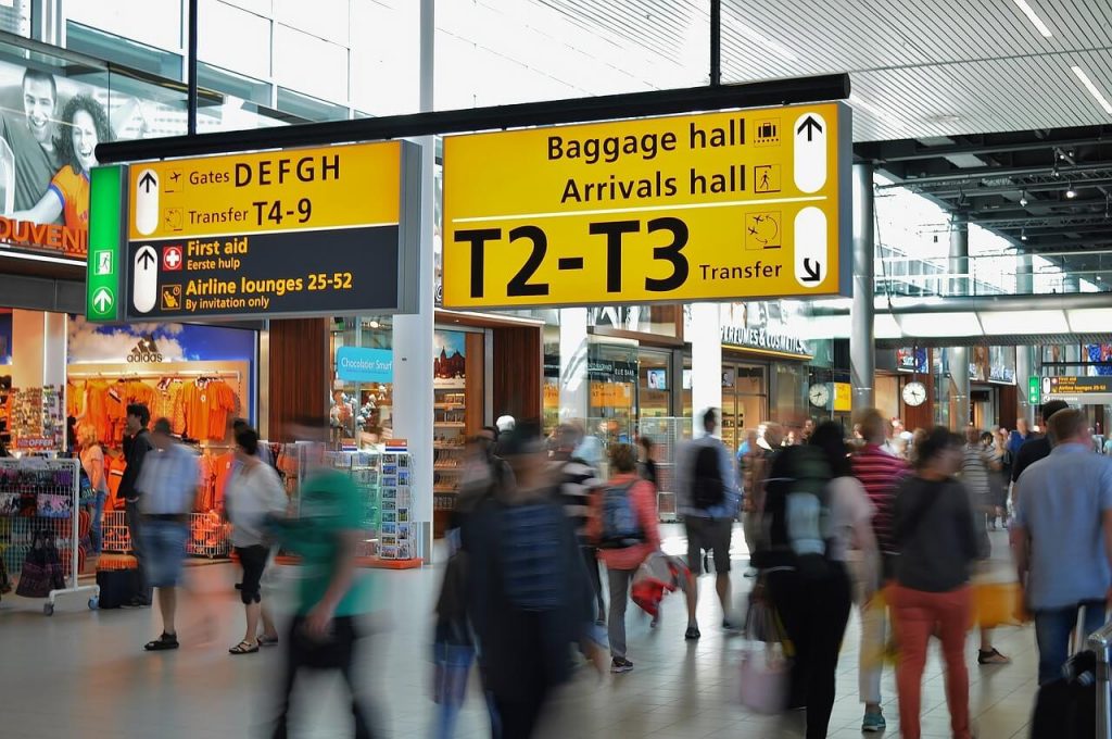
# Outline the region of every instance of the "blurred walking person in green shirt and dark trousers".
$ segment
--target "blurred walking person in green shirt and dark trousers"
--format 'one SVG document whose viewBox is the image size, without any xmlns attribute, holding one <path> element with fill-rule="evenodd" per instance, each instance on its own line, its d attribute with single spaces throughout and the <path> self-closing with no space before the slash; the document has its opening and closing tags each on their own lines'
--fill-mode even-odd
<svg viewBox="0 0 1112 739">
<path fill-rule="evenodd" d="M 300 424 L 296 439 L 318 441 L 324 453 L 324 420 Z M 289 736 L 289 710 L 302 669 L 338 670 L 351 693 L 356 739 L 369 739 L 370 712 L 355 680 L 355 651 L 363 635 L 359 619 L 369 609 L 370 581 L 356 572 L 356 551 L 364 538 L 364 499 L 346 474 L 310 460 L 300 489 L 298 518 L 271 516 L 282 548 L 301 558 L 296 612 L 286 644 L 279 716 L 275 739 Z"/>
</svg>

